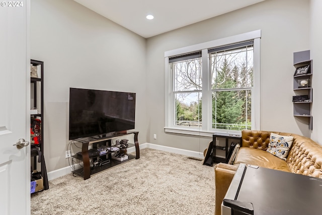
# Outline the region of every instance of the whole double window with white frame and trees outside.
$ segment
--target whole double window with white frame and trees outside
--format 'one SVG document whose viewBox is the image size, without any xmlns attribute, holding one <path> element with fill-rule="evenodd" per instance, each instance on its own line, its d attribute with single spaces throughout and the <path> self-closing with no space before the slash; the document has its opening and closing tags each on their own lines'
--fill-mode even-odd
<svg viewBox="0 0 322 215">
<path fill-rule="evenodd" d="M 167 132 L 260 129 L 260 34 L 165 52 Z"/>
</svg>

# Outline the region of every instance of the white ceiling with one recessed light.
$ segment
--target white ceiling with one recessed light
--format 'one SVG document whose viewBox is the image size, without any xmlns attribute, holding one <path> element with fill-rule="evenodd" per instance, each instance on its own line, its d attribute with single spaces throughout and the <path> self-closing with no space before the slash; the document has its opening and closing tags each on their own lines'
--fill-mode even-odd
<svg viewBox="0 0 322 215">
<path fill-rule="evenodd" d="M 144 37 L 152 37 L 265 0 L 74 0 Z M 147 20 L 146 15 L 154 16 Z"/>
</svg>

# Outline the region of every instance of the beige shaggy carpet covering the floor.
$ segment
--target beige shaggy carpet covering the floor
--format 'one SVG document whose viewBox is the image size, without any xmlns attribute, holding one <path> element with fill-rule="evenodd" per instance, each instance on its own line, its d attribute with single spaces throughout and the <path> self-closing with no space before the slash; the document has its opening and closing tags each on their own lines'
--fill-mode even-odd
<svg viewBox="0 0 322 215">
<path fill-rule="evenodd" d="M 143 149 L 140 159 L 92 175 L 49 181 L 31 196 L 31 214 L 214 214 L 214 168 Z"/>
</svg>

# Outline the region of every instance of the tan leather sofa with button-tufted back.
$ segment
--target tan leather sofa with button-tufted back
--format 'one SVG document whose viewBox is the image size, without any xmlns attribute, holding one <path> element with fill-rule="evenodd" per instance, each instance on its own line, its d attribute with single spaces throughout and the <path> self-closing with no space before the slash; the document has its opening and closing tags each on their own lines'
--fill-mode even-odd
<svg viewBox="0 0 322 215">
<path fill-rule="evenodd" d="M 294 137 L 286 160 L 266 151 L 272 132 Z M 322 146 L 310 138 L 292 133 L 260 130 L 241 131 L 241 146 L 233 165 L 224 163 L 215 165 L 215 214 L 217 215 L 221 214 L 221 202 L 241 163 L 322 178 Z"/>
</svg>

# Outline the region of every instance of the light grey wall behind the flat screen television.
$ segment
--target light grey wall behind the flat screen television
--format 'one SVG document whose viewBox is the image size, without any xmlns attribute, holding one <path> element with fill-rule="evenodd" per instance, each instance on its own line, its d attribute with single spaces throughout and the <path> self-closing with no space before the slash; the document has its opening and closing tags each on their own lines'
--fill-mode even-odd
<svg viewBox="0 0 322 215">
<path fill-rule="evenodd" d="M 44 61 L 47 171 L 68 165 L 69 88 L 136 93 L 139 143 L 146 142 L 145 39 L 71 0 L 31 1 L 31 58 Z"/>
</svg>

